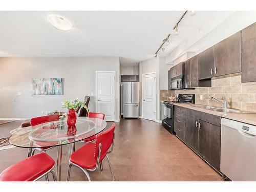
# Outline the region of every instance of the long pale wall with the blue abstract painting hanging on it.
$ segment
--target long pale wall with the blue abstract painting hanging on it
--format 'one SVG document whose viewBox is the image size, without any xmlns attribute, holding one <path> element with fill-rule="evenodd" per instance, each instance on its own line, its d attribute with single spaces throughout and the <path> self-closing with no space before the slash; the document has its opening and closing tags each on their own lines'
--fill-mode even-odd
<svg viewBox="0 0 256 192">
<path fill-rule="evenodd" d="M 102 70 L 116 71 L 116 119 L 119 119 L 119 57 L 0 58 L 0 118 L 41 116 L 41 111 L 59 110 L 62 100 L 83 100 L 85 95 L 91 96 L 89 109 L 95 111 L 95 71 Z M 64 78 L 64 94 L 31 95 L 31 78 L 44 77 Z"/>
</svg>

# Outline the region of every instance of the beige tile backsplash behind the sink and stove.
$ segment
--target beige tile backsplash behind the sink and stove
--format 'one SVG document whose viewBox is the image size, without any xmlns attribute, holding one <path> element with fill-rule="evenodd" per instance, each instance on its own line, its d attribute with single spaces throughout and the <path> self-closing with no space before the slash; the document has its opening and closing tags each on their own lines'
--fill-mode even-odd
<svg viewBox="0 0 256 192">
<path fill-rule="evenodd" d="M 212 79 L 210 88 L 175 91 L 175 95 L 179 93 L 195 94 L 196 104 L 222 106 L 215 100 L 209 100 L 209 97 L 215 97 L 217 99 L 224 98 L 227 100 L 229 108 L 256 112 L 256 82 L 241 83 L 241 75 Z M 202 99 L 200 99 L 200 95 Z"/>
</svg>

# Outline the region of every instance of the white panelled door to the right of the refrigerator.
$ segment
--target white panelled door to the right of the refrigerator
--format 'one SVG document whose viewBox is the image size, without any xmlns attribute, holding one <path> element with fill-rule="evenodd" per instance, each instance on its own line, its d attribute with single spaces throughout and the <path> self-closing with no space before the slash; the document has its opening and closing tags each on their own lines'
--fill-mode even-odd
<svg viewBox="0 0 256 192">
<path fill-rule="evenodd" d="M 156 120 L 156 74 L 142 75 L 142 114 L 143 119 Z"/>
</svg>

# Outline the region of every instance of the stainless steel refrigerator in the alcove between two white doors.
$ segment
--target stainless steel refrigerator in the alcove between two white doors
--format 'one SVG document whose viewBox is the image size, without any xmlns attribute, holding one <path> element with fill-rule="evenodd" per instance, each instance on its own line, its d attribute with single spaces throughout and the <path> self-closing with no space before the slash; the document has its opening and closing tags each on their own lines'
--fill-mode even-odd
<svg viewBox="0 0 256 192">
<path fill-rule="evenodd" d="M 139 118 L 139 82 L 123 82 L 123 118 Z"/>
</svg>

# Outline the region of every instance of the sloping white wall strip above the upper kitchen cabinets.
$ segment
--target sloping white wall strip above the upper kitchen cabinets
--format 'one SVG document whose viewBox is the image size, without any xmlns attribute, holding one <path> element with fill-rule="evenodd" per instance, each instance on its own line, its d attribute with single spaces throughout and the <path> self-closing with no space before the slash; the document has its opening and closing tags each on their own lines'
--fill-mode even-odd
<svg viewBox="0 0 256 192">
<path fill-rule="evenodd" d="M 256 11 L 235 12 L 200 39 L 190 37 L 190 39 L 184 40 L 167 56 L 167 62 L 173 62 L 186 52 L 196 52 L 198 54 L 254 22 L 256 22 Z"/>
</svg>

